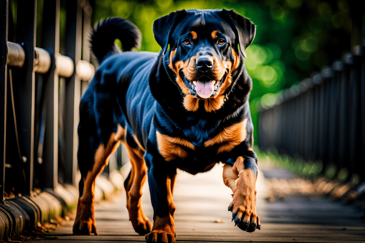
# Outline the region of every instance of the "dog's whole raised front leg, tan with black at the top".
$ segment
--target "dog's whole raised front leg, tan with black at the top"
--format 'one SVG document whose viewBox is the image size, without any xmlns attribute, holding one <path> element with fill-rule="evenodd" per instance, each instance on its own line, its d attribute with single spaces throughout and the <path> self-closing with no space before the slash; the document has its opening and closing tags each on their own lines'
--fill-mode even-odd
<svg viewBox="0 0 365 243">
<path fill-rule="evenodd" d="M 233 191 L 233 201 L 228 207 L 232 212 L 235 226 L 253 232 L 261 228 L 260 217 L 256 213 L 257 166 L 252 157 L 240 156 L 233 166 L 223 167 L 223 181 Z"/>
</svg>

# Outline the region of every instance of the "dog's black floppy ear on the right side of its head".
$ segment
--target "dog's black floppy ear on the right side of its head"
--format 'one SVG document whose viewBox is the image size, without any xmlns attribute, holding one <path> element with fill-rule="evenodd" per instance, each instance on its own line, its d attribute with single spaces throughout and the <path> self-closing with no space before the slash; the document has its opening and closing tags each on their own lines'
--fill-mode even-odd
<svg viewBox="0 0 365 243">
<path fill-rule="evenodd" d="M 256 26 L 246 17 L 243 17 L 239 13 L 227 9 L 223 9 L 222 12 L 227 14 L 235 28 L 233 28 L 236 38 L 238 37 L 239 49 L 244 57 L 246 56 L 246 48 L 252 43 L 256 34 Z M 236 42 L 237 43 L 237 42 Z M 237 47 L 237 46 L 236 46 Z"/>
</svg>

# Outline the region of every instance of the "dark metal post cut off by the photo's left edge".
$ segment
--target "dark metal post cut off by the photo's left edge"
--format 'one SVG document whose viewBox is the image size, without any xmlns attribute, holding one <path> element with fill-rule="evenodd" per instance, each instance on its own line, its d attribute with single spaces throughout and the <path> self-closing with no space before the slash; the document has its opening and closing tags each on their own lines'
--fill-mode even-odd
<svg viewBox="0 0 365 243">
<path fill-rule="evenodd" d="M 6 64 L 6 42 L 8 40 L 8 0 L 0 0 L 0 148 L 3 146 L 3 156 L 0 156 L 0 202 L 3 201 L 5 185 L 5 142 L 6 142 L 6 99 L 7 99 L 7 64 Z M 2 144 L 2 145 L 1 145 Z"/>
</svg>

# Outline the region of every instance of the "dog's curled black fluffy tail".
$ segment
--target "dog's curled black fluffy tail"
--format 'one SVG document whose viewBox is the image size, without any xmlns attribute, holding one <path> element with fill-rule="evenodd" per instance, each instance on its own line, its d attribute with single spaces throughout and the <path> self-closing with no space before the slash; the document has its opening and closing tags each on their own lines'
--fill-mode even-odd
<svg viewBox="0 0 365 243">
<path fill-rule="evenodd" d="M 121 17 L 100 20 L 91 32 L 91 50 L 97 61 L 101 63 L 110 55 L 122 52 L 114 42 L 119 39 L 123 51 L 131 51 L 141 46 L 141 31 L 130 21 Z"/>
</svg>

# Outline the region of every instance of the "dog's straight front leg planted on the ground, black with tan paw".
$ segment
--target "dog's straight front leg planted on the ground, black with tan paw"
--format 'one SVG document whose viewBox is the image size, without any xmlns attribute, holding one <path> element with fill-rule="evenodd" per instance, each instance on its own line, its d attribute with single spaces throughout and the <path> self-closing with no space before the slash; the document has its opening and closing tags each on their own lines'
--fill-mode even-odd
<svg viewBox="0 0 365 243">
<path fill-rule="evenodd" d="M 145 155 L 145 160 L 146 158 L 151 158 L 151 155 Z M 173 243 L 176 242 L 174 223 L 176 207 L 172 200 L 172 191 L 176 169 L 167 169 L 166 165 L 162 164 L 164 162 L 156 163 L 151 160 L 148 183 L 154 215 L 152 231 L 146 235 L 146 242 Z"/>
</svg>

